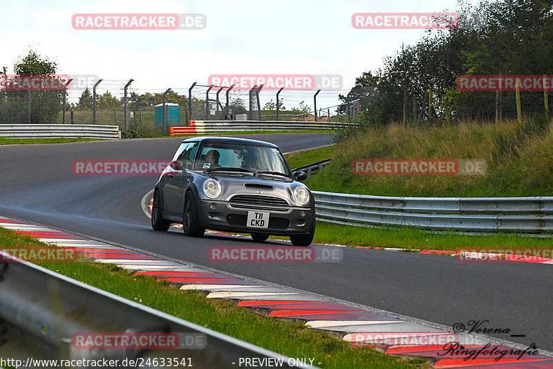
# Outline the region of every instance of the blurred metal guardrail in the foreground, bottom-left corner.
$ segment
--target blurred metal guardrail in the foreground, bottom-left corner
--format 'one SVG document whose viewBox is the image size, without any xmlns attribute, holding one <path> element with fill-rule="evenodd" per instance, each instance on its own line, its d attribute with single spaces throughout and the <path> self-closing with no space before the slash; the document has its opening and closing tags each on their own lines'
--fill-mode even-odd
<svg viewBox="0 0 553 369">
<path fill-rule="evenodd" d="M 84 285 L 35 264 L 11 262 L 17 259 L 0 253 L 7 261 L 0 263 L 0 357 L 4 359 L 24 362 L 28 357 L 119 359 L 121 363 L 123 359 L 137 357 L 171 357 L 190 358 L 194 368 L 236 368 L 240 358 L 277 358 L 283 359 L 283 367 L 290 367 L 288 357 L 281 354 Z M 147 351 L 73 347 L 73 334 L 91 332 L 203 334 L 206 345 Z M 157 366 L 156 363 L 150 367 Z"/>
</svg>

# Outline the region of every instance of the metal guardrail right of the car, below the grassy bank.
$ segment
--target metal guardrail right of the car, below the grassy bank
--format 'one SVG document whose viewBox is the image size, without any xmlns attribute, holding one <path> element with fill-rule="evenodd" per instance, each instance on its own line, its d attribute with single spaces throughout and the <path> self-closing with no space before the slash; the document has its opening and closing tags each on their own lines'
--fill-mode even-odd
<svg viewBox="0 0 553 369">
<path fill-rule="evenodd" d="M 553 197 L 386 197 L 312 191 L 323 222 L 431 230 L 551 233 Z"/>
</svg>

